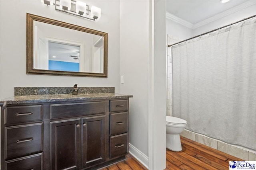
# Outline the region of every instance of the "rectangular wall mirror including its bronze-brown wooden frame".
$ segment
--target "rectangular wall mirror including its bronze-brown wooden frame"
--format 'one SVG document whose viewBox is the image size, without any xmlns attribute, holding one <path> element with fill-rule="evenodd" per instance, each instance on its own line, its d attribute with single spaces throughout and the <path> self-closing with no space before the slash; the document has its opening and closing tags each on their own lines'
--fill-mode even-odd
<svg viewBox="0 0 256 170">
<path fill-rule="evenodd" d="M 107 77 L 108 33 L 26 14 L 26 72 Z"/>
</svg>

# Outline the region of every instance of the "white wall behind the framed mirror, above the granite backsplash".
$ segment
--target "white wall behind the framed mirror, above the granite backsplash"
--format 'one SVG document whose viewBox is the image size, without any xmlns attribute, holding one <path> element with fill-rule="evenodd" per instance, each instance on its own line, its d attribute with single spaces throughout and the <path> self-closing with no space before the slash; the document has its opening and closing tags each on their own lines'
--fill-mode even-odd
<svg viewBox="0 0 256 170">
<path fill-rule="evenodd" d="M 40 0 L 0 0 L 0 99 L 14 96 L 14 87 L 115 87 L 119 92 L 120 2 L 86 0 L 101 8 L 98 21 L 86 20 L 46 6 Z M 10 12 L 10 9 L 13 9 Z M 26 13 L 108 33 L 108 78 L 26 74 Z"/>
</svg>

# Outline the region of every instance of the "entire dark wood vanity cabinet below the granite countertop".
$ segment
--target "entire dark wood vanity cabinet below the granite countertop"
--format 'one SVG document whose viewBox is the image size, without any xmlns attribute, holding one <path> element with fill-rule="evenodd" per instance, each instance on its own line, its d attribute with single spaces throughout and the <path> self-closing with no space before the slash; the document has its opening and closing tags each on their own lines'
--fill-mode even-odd
<svg viewBox="0 0 256 170">
<path fill-rule="evenodd" d="M 128 153 L 128 98 L 7 105 L 3 170 L 97 169 Z"/>
</svg>

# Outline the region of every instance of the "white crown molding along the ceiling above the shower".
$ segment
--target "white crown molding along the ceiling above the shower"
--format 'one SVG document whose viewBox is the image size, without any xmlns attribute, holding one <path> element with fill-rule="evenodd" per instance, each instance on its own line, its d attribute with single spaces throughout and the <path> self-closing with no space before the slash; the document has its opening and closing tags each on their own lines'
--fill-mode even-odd
<svg viewBox="0 0 256 170">
<path fill-rule="evenodd" d="M 169 13 L 169 12 L 166 12 L 166 18 L 168 18 L 168 19 L 170 19 L 172 21 L 175 21 L 177 23 L 180 23 L 181 25 L 184 25 L 184 26 L 186 26 L 186 27 L 188 27 L 190 29 L 195 29 L 195 28 L 201 27 L 202 25 L 210 23 L 212 21 L 218 20 L 220 18 L 223 18 L 223 17 L 228 16 L 230 14 L 233 14 L 235 12 L 238 12 L 238 11 L 240 11 L 240 10 L 242 10 L 244 8 L 247 8 L 249 6 L 252 6 L 254 4 L 256 4 L 256 0 L 246 1 L 246 2 L 244 2 L 244 3 L 242 3 L 242 4 L 238 5 L 238 6 L 234 6 L 233 8 L 230 8 L 230 9 L 224 11 L 224 12 L 221 12 L 221 13 L 215 15 L 215 16 L 212 16 L 212 17 L 210 17 L 210 18 L 208 18 L 206 20 L 200 21 L 200 22 L 198 22 L 196 24 L 192 24 L 192 23 L 190 23 L 190 22 L 188 22 L 186 20 L 183 20 L 183 19 L 181 19 L 181 18 L 179 18 L 179 17 L 177 17 L 177 16 L 175 16 L 175 15 Z"/>
</svg>

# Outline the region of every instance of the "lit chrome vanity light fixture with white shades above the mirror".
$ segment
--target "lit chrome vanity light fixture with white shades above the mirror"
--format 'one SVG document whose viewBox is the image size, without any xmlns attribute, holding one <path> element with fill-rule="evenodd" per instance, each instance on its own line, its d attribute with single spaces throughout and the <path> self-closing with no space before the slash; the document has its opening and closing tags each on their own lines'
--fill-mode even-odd
<svg viewBox="0 0 256 170">
<path fill-rule="evenodd" d="M 89 20 L 98 20 L 100 18 L 101 9 L 92 6 L 91 10 L 89 6 L 81 0 L 41 0 L 46 5 L 55 5 L 55 10 L 66 12 L 75 16 L 80 16 Z M 89 12 L 91 13 L 89 16 Z"/>
</svg>

